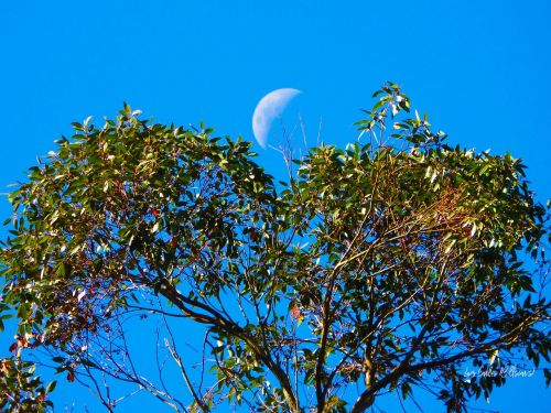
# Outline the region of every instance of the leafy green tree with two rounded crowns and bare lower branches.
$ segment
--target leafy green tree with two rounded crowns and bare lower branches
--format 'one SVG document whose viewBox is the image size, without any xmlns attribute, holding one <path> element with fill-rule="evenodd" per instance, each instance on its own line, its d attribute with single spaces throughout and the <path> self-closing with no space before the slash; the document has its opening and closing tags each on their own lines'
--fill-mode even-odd
<svg viewBox="0 0 551 413">
<path fill-rule="evenodd" d="M 467 380 L 465 366 L 549 361 L 548 216 L 525 166 L 450 146 L 397 85 L 374 96 L 358 142 L 311 149 L 280 185 L 250 143 L 203 127 L 128 106 L 101 129 L 74 123 L 10 195 L 1 316 L 15 312 L 18 336 L 1 406 L 47 409 L 55 383 L 29 351 L 108 411 L 120 380 L 174 411 L 356 413 L 425 389 L 461 412 L 507 380 Z M 149 378 L 133 362 L 134 316 L 159 318 L 154 357 L 186 394 L 164 361 Z M 204 327 L 198 373 L 182 319 Z"/>
</svg>

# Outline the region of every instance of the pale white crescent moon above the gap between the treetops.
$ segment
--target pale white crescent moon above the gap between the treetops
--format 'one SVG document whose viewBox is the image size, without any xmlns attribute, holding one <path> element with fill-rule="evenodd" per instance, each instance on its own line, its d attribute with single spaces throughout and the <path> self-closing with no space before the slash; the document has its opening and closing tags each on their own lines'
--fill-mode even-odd
<svg viewBox="0 0 551 413">
<path fill-rule="evenodd" d="M 289 102 L 302 94 L 299 89 L 285 87 L 270 91 L 258 102 L 252 113 L 252 132 L 257 142 L 266 149 L 268 145 L 268 134 L 272 126 L 273 119 L 280 117 L 285 110 Z"/>
</svg>

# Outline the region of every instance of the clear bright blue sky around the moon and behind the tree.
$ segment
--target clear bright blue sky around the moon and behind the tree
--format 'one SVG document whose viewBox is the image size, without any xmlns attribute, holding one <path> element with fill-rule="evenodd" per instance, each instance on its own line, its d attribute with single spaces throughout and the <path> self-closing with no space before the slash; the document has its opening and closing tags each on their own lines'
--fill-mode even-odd
<svg viewBox="0 0 551 413">
<path fill-rule="evenodd" d="M 204 120 L 251 140 L 258 100 L 292 87 L 303 94 L 285 112 L 288 129 L 300 112 L 309 143 L 320 134 L 344 145 L 372 91 L 392 80 L 451 142 L 525 159 L 545 200 L 550 22 L 549 0 L 1 1 L 0 192 L 71 134 L 72 121 L 101 123 L 123 101 L 155 121 Z M 281 174 L 276 152 L 256 149 Z M 4 199 L 0 213 L 10 214 Z M 74 387 L 56 393 L 61 409 L 87 396 Z M 543 412 L 551 392 L 514 379 L 478 404 Z"/>
</svg>

